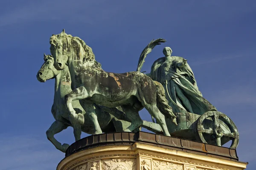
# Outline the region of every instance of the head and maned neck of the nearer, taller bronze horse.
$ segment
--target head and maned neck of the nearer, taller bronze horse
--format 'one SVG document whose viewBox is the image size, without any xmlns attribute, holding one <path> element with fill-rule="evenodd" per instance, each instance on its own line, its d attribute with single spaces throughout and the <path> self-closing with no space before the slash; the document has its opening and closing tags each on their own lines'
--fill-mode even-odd
<svg viewBox="0 0 256 170">
<path fill-rule="evenodd" d="M 57 70 L 62 70 L 65 63 L 69 65 L 73 60 L 80 60 L 82 63 L 90 62 L 101 68 L 99 62 L 95 60 L 92 48 L 79 37 L 66 34 L 64 29 L 60 34 L 53 34 L 50 37 L 50 44 L 54 66 Z"/>
</svg>

